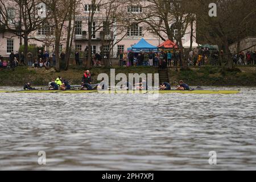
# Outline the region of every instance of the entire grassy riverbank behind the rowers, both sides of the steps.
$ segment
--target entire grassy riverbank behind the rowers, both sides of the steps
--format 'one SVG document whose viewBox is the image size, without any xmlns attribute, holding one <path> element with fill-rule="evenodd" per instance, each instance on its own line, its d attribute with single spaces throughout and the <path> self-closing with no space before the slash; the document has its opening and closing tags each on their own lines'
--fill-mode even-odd
<svg viewBox="0 0 256 182">
<path fill-rule="evenodd" d="M 57 73 L 54 69 L 46 70 L 44 68 L 34 69 L 19 67 L 15 71 L 3 69 L 0 71 L 0 86 L 22 86 L 24 82 L 30 81 L 33 85 L 43 86 L 47 85 L 49 81 L 55 79 L 57 76 L 69 80 L 71 84 L 81 84 L 82 74 L 85 68 L 73 67 L 68 71 L 61 71 Z M 249 68 L 248 68 L 249 69 Z M 97 76 L 100 73 L 107 73 L 110 75 L 110 69 L 106 68 L 92 68 L 92 78 L 97 82 Z M 115 74 L 125 73 L 157 73 L 157 68 L 148 67 L 133 67 L 133 68 L 115 68 Z M 246 68 L 241 72 L 223 71 L 221 68 L 201 68 L 190 69 L 189 71 L 176 72 L 170 69 L 169 78 L 171 84 L 177 84 L 178 80 L 184 80 L 189 85 L 201 86 L 256 86 L 256 72 L 246 71 Z"/>
</svg>

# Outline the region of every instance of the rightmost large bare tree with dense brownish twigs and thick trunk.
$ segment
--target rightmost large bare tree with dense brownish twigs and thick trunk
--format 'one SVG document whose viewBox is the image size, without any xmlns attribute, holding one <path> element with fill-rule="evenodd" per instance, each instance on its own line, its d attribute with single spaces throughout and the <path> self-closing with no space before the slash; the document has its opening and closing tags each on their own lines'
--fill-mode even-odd
<svg viewBox="0 0 256 182">
<path fill-rule="evenodd" d="M 208 14 L 209 3 L 217 5 L 217 17 Z M 198 0 L 194 2 L 200 9 L 196 9 L 199 23 L 199 34 L 207 42 L 217 44 L 223 51 L 221 63 L 232 69 L 233 61 L 229 51 L 229 45 L 237 42 L 237 50 L 240 51 L 241 39 L 251 34 L 255 35 L 256 28 L 256 2 L 254 0 Z M 247 8 L 247 6 L 251 8 Z"/>
</svg>

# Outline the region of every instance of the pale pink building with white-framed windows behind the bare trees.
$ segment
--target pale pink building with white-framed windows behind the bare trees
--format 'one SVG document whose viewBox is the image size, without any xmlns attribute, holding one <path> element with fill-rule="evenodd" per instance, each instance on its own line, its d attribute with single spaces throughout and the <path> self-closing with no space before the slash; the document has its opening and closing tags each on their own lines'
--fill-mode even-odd
<svg viewBox="0 0 256 182">
<path fill-rule="evenodd" d="M 90 5 L 89 0 L 82 0 L 79 9 L 77 9 L 77 12 L 79 14 L 76 15 L 76 21 L 75 21 L 75 36 L 73 39 L 73 49 L 79 49 L 80 51 L 84 51 L 86 46 L 88 46 L 88 14 L 92 9 L 92 6 Z M 46 6 L 43 3 L 40 3 L 38 5 L 40 9 L 38 10 L 38 14 L 40 16 L 44 17 L 46 16 Z M 105 5 L 106 6 L 106 5 Z M 118 23 L 120 22 L 114 22 L 109 27 L 104 26 L 104 19 L 106 18 L 106 10 L 107 8 L 104 6 L 96 6 L 96 14 L 94 15 L 94 22 L 92 31 L 92 52 L 100 52 L 102 41 L 102 31 L 107 32 L 105 36 L 105 45 L 103 45 L 104 52 L 107 52 L 109 50 L 108 46 L 108 39 L 109 41 L 112 41 L 114 43 L 113 51 L 110 52 L 110 56 L 112 55 L 115 57 L 117 55 L 118 51 L 127 51 L 127 48 L 133 46 L 134 44 L 138 43 L 141 38 L 144 38 L 148 43 L 158 46 L 163 42 L 159 38 L 159 36 L 152 35 L 150 32 L 146 29 L 146 24 L 139 23 L 134 24 L 134 26 L 131 27 L 122 27 L 119 26 Z M 120 11 L 120 13 L 124 16 L 128 16 L 129 14 L 138 15 L 140 16 L 143 14 L 143 7 L 139 6 L 130 6 L 130 5 L 118 5 L 117 10 Z M 15 16 L 15 9 L 10 8 L 9 11 L 11 16 Z M 17 13 L 16 13 L 17 15 Z M 1 17 L 0 17 L 1 18 Z M 19 16 L 16 16 L 16 19 L 18 19 Z M 122 24 L 125 24 L 122 22 Z M 128 23 L 127 23 L 128 24 Z M 170 26 L 171 26 L 170 22 Z M 194 23 L 195 24 L 195 23 Z M 105 28 L 105 30 L 104 30 Z M 194 31 L 196 31 L 196 27 L 194 25 Z M 183 38 L 183 43 L 188 42 L 190 40 L 190 30 L 191 27 L 188 26 L 186 30 L 186 34 Z M 61 39 L 61 46 L 60 51 L 65 51 L 65 43 L 67 41 L 67 30 L 64 28 L 63 30 L 63 37 Z M 176 32 L 174 32 L 176 33 Z M 196 32 L 193 32 L 194 37 L 196 37 Z M 164 35 L 163 35 L 164 36 Z M 166 36 L 164 36 L 166 38 Z M 49 25 L 45 25 L 42 28 L 39 28 L 39 30 L 36 30 L 35 32 L 30 34 L 30 38 L 36 38 L 38 40 L 30 40 L 29 45 L 35 45 L 38 47 L 44 47 L 45 50 L 47 50 L 49 53 L 51 53 L 54 49 L 54 36 L 53 36 L 53 28 Z M 40 42 L 39 40 L 47 39 L 48 43 Z M 122 39 L 122 40 L 121 40 Z M 193 41 L 196 42 L 195 38 L 193 38 Z M 23 44 L 23 40 L 20 40 L 18 36 L 14 36 L 14 34 L 10 32 L 4 32 L 0 34 L 0 55 L 2 56 L 8 56 L 11 51 L 19 50 L 20 44 Z"/>
</svg>

